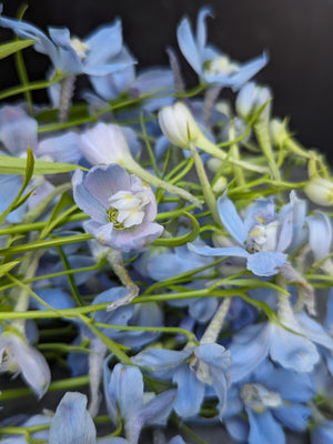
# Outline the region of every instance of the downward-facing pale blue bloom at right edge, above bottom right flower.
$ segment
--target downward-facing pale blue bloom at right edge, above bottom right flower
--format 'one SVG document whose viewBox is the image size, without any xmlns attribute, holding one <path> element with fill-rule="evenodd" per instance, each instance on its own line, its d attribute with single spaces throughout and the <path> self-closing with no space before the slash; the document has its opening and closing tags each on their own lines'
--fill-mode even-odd
<svg viewBox="0 0 333 444">
<path fill-rule="evenodd" d="M 281 322 L 283 325 L 270 321 L 249 325 L 233 336 L 229 347 L 231 382 L 246 377 L 268 355 L 284 369 L 309 373 L 321 357 L 314 343 L 333 350 L 333 340 L 304 312 L 294 314 L 285 304 Z"/>
</svg>

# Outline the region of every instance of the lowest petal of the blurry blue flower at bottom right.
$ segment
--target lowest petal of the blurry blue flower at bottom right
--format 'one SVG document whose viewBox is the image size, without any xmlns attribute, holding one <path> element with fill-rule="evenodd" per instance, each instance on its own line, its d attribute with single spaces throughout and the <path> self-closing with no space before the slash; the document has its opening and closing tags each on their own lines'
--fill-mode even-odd
<svg viewBox="0 0 333 444">
<path fill-rule="evenodd" d="M 273 418 L 270 411 L 254 413 L 246 408 L 250 421 L 249 444 L 284 444 L 282 426 Z"/>
</svg>

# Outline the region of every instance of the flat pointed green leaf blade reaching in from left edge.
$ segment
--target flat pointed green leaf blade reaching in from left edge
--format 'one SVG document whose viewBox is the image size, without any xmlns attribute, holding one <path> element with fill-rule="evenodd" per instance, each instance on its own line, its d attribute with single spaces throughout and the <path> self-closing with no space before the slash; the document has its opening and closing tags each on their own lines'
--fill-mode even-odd
<svg viewBox="0 0 333 444">
<path fill-rule="evenodd" d="M 0 174 L 26 174 L 27 160 L 12 158 L 10 155 L 0 155 Z M 83 167 L 73 163 L 47 162 L 42 160 L 34 161 L 34 174 L 57 174 L 68 173 L 77 169 L 87 170 Z"/>
</svg>

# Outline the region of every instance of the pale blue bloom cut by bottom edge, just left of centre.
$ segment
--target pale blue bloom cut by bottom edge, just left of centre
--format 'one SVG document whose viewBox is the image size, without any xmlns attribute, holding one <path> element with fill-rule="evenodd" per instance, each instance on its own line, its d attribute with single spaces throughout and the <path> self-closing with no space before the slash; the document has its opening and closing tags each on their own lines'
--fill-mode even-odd
<svg viewBox="0 0 333 444">
<path fill-rule="evenodd" d="M 120 414 L 124 422 L 125 437 L 137 444 L 144 425 L 165 425 L 173 407 L 175 390 L 158 395 L 145 394 L 143 377 L 138 367 L 117 364 L 110 374 L 108 361 L 104 363 L 104 396 L 109 415 L 117 424 Z M 149 395 L 150 401 L 144 402 L 145 395 Z"/>
</svg>

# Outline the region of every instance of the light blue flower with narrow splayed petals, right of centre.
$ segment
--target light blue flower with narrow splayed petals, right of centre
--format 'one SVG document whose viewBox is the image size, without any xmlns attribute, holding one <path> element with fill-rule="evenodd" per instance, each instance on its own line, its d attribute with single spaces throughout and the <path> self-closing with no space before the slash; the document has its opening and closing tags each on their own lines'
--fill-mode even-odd
<svg viewBox="0 0 333 444">
<path fill-rule="evenodd" d="M 259 199 L 251 205 L 244 221 L 224 193 L 218 200 L 218 211 L 223 225 L 240 246 L 211 248 L 189 244 L 189 249 L 206 256 L 235 256 L 246 260 L 246 269 L 258 276 L 271 276 L 287 264 L 283 253 L 291 245 L 294 229 L 299 228 L 297 206 L 291 193 L 291 204 L 275 214 L 271 198 Z M 303 220 L 301 221 L 303 224 Z M 299 245 L 300 246 L 300 245 Z"/>
</svg>

